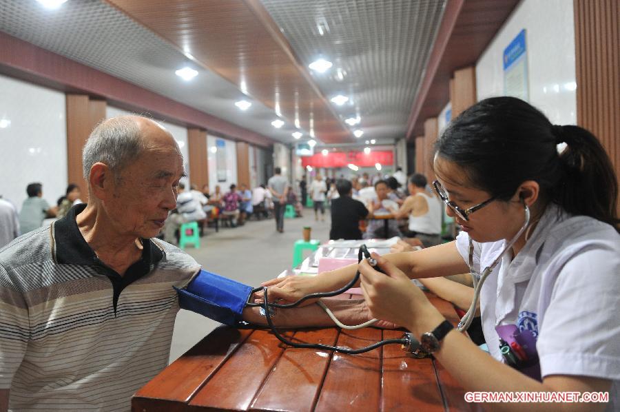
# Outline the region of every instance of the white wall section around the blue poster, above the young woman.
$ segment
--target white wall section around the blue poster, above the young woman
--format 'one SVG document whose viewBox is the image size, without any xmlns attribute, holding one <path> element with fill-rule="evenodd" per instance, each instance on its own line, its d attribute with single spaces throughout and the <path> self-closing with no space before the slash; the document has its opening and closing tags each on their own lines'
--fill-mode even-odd
<svg viewBox="0 0 620 412">
<path fill-rule="evenodd" d="M 502 56 L 526 30 L 529 101 L 555 124 L 577 123 L 572 0 L 524 0 L 476 64 L 478 100 L 504 94 Z"/>
</svg>

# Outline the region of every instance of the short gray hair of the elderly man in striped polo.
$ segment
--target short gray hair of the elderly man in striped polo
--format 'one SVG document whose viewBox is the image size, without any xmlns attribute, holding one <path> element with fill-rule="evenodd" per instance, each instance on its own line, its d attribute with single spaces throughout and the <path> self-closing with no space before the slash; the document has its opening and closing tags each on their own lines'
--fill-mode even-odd
<svg viewBox="0 0 620 412">
<path fill-rule="evenodd" d="M 88 181 L 90 168 L 95 163 L 105 163 L 118 177 L 123 167 L 135 160 L 144 144 L 135 117 L 118 116 L 97 125 L 82 151 L 84 178 Z"/>
</svg>

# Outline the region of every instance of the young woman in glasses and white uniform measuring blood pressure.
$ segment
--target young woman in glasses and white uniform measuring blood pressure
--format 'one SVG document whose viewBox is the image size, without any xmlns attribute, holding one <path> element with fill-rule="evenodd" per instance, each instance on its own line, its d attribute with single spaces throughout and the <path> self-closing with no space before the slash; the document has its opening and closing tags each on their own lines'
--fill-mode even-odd
<svg viewBox="0 0 620 412">
<path fill-rule="evenodd" d="M 566 144 L 561 152 L 559 143 Z M 452 243 L 375 256 L 387 276 L 364 260 L 361 287 L 373 316 L 412 331 L 467 391 L 608 391 L 607 405 L 553 407 L 617 410 L 618 185 L 597 138 L 581 127 L 552 125 L 524 101 L 497 97 L 457 117 L 435 147 L 435 189 L 462 232 Z M 355 269 L 271 280 L 269 296 L 296 300 L 333 290 Z M 409 281 L 467 271 L 486 278 L 480 302 L 492 356 L 446 326 Z M 500 336 L 519 338 L 517 347 L 506 349 Z"/>
</svg>

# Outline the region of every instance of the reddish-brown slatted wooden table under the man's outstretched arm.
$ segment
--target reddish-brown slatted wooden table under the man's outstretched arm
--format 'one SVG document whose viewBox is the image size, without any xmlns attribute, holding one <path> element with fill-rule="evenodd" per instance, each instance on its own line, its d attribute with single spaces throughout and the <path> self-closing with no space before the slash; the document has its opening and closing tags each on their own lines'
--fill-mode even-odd
<svg viewBox="0 0 620 412">
<path fill-rule="evenodd" d="M 430 295 L 451 322 L 452 305 Z M 362 347 L 402 331 L 287 331 L 300 342 Z M 286 347 L 265 329 L 220 327 L 132 399 L 132 411 L 470 411 L 464 390 L 433 359 L 391 344 L 360 355 Z"/>
</svg>

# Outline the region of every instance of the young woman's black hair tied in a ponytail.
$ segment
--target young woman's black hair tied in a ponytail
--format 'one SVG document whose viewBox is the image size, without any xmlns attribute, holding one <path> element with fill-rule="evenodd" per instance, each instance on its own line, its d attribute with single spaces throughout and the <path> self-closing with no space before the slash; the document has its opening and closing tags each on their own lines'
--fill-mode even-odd
<svg viewBox="0 0 620 412">
<path fill-rule="evenodd" d="M 559 143 L 566 143 L 561 154 Z M 435 149 L 463 167 L 469 183 L 500 200 L 533 180 L 544 201 L 619 230 L 617 177 L 601 143 L 579 126 L 552 125 L 525 101 L 506 96 L 479 101 L 448 125 Z"/>
</svg>

